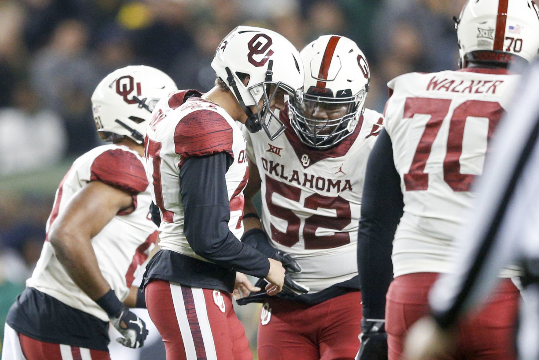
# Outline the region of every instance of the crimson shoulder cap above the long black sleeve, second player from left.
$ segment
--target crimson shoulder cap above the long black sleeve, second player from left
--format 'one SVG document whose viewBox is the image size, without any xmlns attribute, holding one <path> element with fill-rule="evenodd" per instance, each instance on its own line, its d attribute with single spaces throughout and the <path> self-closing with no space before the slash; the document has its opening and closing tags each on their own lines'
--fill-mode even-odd
<svg viewBox="0 0 539 360">
<path fill-rule="evenodd" d="M 220 152 L 232 157 L 232 127 L 219 113 L 197 110 L 187 114 L 174 132 L 176 154 L 184 159 Z"/>
</svg>

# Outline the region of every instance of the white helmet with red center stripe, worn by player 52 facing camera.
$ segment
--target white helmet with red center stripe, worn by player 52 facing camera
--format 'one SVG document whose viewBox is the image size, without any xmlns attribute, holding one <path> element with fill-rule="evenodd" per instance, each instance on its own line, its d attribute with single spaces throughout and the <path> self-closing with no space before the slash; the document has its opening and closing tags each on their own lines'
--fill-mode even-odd
<svg viewBox="0 0 539 360">
<path fill-rule="evenodd" d="M 302 101 L 290 101 L 292 127 L 303 144 L 324 150 L 352 132 L 363 114 L 370 70 L 349 38 L 323 35 L 301 50 Z"/>
</svg>

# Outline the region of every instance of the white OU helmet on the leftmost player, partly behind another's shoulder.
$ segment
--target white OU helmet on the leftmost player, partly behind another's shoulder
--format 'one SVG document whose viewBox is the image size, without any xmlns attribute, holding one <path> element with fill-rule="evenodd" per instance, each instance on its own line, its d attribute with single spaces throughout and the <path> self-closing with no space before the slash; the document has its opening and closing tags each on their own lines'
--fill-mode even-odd
<svg viewBox="0 0 539 360">
<path fill-rule="evenodd" d="M 127 136 L 142 144 L 155 104 L 178 88 L 151 66 L 130 65 L 108 74 L 92 94 L 95 127 L 101 140 Z"/>
</svg>

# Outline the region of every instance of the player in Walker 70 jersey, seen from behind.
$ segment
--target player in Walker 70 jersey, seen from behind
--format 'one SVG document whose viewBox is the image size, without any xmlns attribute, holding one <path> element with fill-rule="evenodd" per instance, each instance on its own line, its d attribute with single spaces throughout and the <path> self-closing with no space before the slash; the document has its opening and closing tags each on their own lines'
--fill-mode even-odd
<svg viewBox="0 0 539 360">
<path fill-rule="evenodd" d="M 382 357 L 389 346 L 389 359 L 397 360 L 406 330 L 429 311 L 427 294 L 452 269 L 453 237 L 475 196 L 471 184 L 519 79 L 509 67 L 527 64 L 539 49 L 533 1 L 468 1 L 455 21 L 460 70 L 388 83 L 358 235 L 358 268 L 369 274 L 361 278 L 360 359 Z M 515 358 L 516 275 L 515 267 L 500 272 L 496 295 L 459 323 L 458 347 L 444 358 Z"/>
</svg>

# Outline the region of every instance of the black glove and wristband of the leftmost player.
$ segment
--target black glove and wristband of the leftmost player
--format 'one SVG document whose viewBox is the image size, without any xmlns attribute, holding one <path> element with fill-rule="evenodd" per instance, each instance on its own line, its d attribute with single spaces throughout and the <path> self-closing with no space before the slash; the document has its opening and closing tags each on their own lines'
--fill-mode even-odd
<svg viewBox="0 0 539 360">
<path fill-rule="evenodd" d="M 106 311 L 110 323 L 122 334 L 123 337 L 117 338 L 116 341 L 133 349 L 144 345 L 144 340 L 148 336 L 146 324 L 116 297 L 114 290 L 109 290 L 95 302 Z"/>
</svg>

